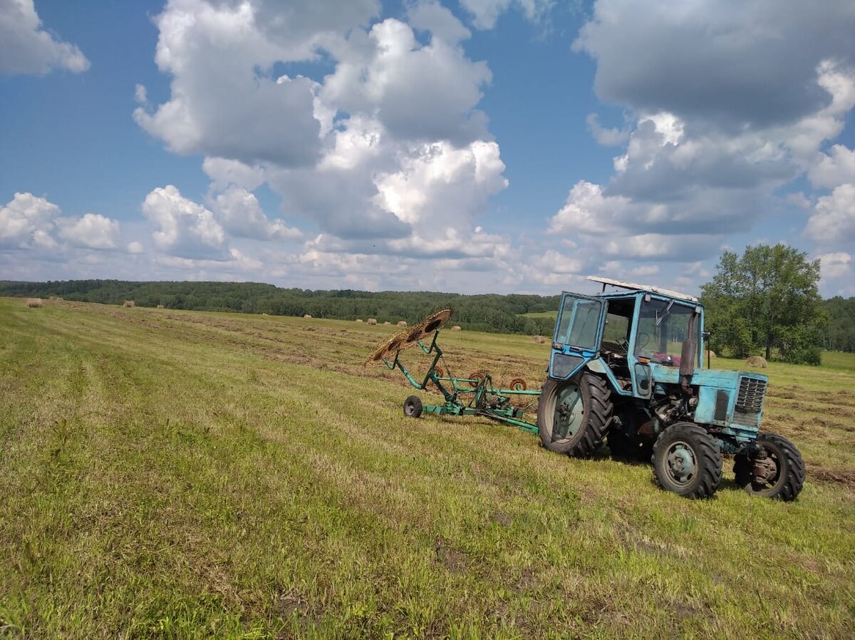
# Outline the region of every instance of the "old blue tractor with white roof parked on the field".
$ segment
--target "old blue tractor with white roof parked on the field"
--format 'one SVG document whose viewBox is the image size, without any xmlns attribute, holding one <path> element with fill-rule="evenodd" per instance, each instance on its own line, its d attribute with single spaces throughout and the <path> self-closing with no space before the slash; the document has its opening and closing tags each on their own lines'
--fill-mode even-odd
<svg viewBox="0 0 855 640">
<path fill-rule="evenodd" d="M 704 368 L 699 300 L 589 280 L 602 293 L 562 295 L 538 407 L 543 446 L 585 456 L 606 441 L 616 457 L 649 457 L 659 486 L 689 498 L 716 492 L 722 453 L 730 453 L 740 486 L 794 500 L 805 482 L 801 454 L 787 438 L 760 431 L 769 379 Z"/>
</svg>

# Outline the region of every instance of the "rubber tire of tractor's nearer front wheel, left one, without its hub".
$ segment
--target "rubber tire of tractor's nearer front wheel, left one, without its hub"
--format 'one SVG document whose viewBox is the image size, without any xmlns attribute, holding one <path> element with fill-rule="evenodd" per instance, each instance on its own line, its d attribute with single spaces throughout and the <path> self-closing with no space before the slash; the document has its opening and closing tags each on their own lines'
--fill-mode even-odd
<svg viewBox="0 0 855 640">
<path fill-rule="evenodd" d="M 671 477 L 668 457 L 672 447 L 681 443 L 691 453 L 696 466 L 687 483 Z M 678 422 L 664 430 L 653 444 L 653 477 L 668 491 L 687 498 L 710 498 L 722 481 L 722 451 L 716 439 L 698 424 Z"/>
</svg>

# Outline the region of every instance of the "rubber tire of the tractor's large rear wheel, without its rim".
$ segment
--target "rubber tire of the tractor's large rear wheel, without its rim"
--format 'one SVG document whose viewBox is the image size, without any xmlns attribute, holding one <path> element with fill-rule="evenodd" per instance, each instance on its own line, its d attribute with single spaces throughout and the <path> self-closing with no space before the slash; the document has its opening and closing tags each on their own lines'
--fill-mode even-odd
<svg viewBox="0 0 855 640">
<path fill-rule="evenodd" d="M 571 383 L 580 389 L 584 422 L 573 436 L 553 440 L 555 402 L 561 390 Z M 555 453 L 579 457 L 591 455 L 603 444 L 603 437 L 611 423 L 614 406 L 610 397 L 611 392 L 604 379 L 587 371 L 581 371 L 569 380 L 547 379 L 541 389 L 537 408 L 540 442 Z"/>
</svg>

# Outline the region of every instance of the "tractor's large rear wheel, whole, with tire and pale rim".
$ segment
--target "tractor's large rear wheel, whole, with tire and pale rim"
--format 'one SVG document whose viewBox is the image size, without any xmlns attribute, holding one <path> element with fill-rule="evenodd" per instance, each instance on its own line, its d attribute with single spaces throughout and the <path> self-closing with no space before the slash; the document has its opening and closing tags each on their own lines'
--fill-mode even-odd
<svg viewBox="0 0 855 640">
<path fill-rule="evenodd" d="M 537 410 L 543 446 L 556 453 L 591 455 L 611 422 L 610 395 L 605 381 L 587 371 L 569 380 L 546 380 Z"/>
</svg>

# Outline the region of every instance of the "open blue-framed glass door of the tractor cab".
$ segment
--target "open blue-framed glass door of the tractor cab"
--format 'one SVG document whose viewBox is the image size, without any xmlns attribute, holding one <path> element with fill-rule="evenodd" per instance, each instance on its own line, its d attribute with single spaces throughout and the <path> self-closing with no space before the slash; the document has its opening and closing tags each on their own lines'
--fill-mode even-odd
<svg viewBox="0 0 855 640">
<path fill-rule="evenodd" d="M 567 380 L 597 355 L 604 314 L 603 299 L 563 293 L 552 339 L 550 377 Z"/>
</svg>

